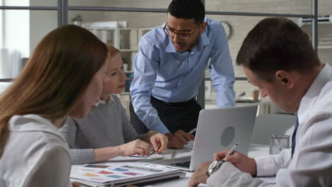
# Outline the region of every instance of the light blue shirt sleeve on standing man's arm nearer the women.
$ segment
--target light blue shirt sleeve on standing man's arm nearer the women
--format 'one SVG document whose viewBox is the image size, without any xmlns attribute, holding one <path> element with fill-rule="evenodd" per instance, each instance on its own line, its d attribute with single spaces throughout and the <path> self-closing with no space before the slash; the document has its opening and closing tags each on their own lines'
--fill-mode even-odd
<svg viewBox="0 0 332 187">
<path fill-rule="evenodd" d="M 150 103 L 156 72 L 159 68 L 159 49 L 148 38 L 140 40 L 140 50 L 135 57 L 133 83 L 131 84 L 131 101 L 138 118 L 149 130 L 162 134 L 170 132 L 160 120 L 157 110 Z"/>
</svg>

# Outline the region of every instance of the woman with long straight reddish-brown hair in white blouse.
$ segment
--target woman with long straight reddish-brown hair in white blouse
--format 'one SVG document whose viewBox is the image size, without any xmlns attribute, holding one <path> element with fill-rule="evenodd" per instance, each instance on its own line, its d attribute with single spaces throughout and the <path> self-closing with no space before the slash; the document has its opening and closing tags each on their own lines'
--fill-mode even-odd
<svg viewBox="0 0 332 187">
<path fill-rule="evenodd" d="M 0 96 L 0 186 L 72 186 L 70 155 L 57 131 L 98 101 L 107 48 L 78 26 L 48 33 Z M 75 185 L 76 186 L 76 185 Z"/>
</svg>

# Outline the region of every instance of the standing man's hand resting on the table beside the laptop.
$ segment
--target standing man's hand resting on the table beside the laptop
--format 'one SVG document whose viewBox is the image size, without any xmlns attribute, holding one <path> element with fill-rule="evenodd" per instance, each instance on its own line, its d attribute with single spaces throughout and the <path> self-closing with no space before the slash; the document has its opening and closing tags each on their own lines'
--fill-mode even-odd
<svg viewBox="0 0 332 187">
<path fill-rule="evenodd" d="M 168 137 L 168 148 L 181 149 L 187 145 L 189 141 L 194 140 L 194 135 L 189 135 L 183 130 L 177 130 L 173 135 L 168 132 L 165 134 Z"/>
</svg>

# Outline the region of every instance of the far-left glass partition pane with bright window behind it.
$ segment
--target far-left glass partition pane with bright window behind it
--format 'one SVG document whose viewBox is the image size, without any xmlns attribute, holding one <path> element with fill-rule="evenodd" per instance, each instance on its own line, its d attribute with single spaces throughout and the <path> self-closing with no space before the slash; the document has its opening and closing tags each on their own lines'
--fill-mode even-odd
<svg viewBox="0 0 332 187">
<path fill-rule="evenodd" d="M 57 28 L 57 11 L 0 10 L 0 15 L 0 79 L 10 79 L 44 35 Z"/>
</svg>

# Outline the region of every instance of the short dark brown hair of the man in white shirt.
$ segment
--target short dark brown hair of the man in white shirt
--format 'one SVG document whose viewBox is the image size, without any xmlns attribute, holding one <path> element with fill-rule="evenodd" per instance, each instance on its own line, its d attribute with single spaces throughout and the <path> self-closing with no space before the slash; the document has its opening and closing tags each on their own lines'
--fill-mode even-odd
<svg viewBox="0 0 332 187">
<path fill-rule="evenodd" d="M 236 64 L 272 81 L 278 70 L 310 72 L 319 58 L 309 35 L 287 18 L 265 18 L 250 30 L 236 57 Z"/>
</svg>

